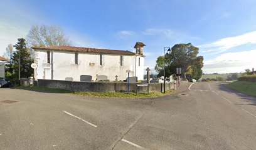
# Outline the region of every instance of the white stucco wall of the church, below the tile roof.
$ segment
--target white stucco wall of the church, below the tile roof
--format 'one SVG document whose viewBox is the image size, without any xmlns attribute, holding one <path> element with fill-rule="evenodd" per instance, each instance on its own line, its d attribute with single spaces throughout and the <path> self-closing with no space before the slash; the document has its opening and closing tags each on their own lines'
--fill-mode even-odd
<svg viewBox="0 0 256 150">
<path fill-rule="evenodd" d="M 51 64 L 47 64 L 47 51 L 35 50 L 35 63 L 38 68 L 35 69 L 36 79 L 51 79 Z M 135 59 L 141 58 L 141 65 L 135 68 Z M 94 65 L 90 66 L 90 63 Z M 144 58 L 141 56 L 123 55 L 123 66 L 120 66 L 120 55 L 102 54 L 102 66 L 100 66 L 100 54 L 78 53 L 78 64 L 75 64 L 74 52 L 53 52 L 53 79 L 65 80 L 73 78 L 73 81 L 80 81 L 81 75 L 90 75 L 92 80 L 96 79 L 96 74 L 106 75 L 110 81 L 115 80 L 115 75 L 119 80 L 127 78 L 126 70 L 131 70 L 130 76 L 136 76 L 139 80 L 144 75 Z"/>
</svg>

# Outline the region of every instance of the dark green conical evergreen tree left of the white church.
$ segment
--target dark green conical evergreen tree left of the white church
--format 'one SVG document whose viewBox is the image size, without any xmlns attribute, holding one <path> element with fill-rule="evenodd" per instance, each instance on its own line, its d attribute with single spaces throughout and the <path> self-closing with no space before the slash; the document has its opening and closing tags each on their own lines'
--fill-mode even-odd
<svg viewBox="0 0 256 150">
<path fill-rule="evenodd" d="M 19 83 L 19 61 L 21 64 L 21 78 L 28 78 L 33 75 L 33 69 L 30 66 L 33 63 L 33 59 L 31 59 L 25 41 L 23 38 L 18 39 L 17 44 L 14 45 L 16 51 L 13 53 L 11 63 L 6 64 L 6 79 L 13 84 Z"/>
</svg>

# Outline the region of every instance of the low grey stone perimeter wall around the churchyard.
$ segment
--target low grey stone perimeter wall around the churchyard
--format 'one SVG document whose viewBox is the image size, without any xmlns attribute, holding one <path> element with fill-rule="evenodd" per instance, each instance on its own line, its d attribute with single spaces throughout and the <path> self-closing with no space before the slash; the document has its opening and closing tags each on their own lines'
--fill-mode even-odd
<svg viewBox="0 0 256 150">
<path fill-rule="evenodd" d="M 130 91 L 137 93 L 147 93 L 147 87 L 137 87 L 140 83 L 130 83 Z M 38 86 L 55 89 L 65 89 L 68 91 L 83 91 L 83 92 L 124 92 L 128 91 L 127 83 L 92 83 L 92 82 L 77 82 L 77 81 L 61 81 L 61 80 L 46 80 L 38 79 Z M 163 83 L 149 84 L 149 93 L 163 92 Z M 166 83 L 166 90 L 173 89 L 173 83 Z"/>
</svg>

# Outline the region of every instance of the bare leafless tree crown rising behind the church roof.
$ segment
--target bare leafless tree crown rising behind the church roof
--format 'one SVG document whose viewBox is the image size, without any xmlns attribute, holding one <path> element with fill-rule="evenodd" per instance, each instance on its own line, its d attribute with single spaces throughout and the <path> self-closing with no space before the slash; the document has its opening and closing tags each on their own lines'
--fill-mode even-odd
<svg viewBox="0 0 256 150">
<path fill-rule="evenodd" d="M 58 26 L 32 26 L 27 41 L 29 46 L 70 46 L 70 40 Z"/>
</svg>

